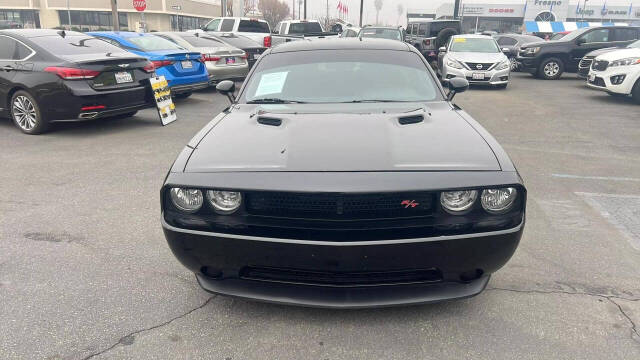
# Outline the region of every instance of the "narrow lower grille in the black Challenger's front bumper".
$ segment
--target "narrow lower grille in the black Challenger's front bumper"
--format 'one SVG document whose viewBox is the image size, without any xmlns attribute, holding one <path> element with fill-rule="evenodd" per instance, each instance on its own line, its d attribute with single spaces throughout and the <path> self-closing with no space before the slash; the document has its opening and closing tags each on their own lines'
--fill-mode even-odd
<svg viewBox="0 0 640 360">
<path fill-rule="evenodd" d="M 384 272 L 324 272 L 300 269 L 244 267 L 240 270 L 240 278 L 290 284 L 355 287 L 435 283 L 442 281 L 442 272 L 433 268 Z"/>
</svg>

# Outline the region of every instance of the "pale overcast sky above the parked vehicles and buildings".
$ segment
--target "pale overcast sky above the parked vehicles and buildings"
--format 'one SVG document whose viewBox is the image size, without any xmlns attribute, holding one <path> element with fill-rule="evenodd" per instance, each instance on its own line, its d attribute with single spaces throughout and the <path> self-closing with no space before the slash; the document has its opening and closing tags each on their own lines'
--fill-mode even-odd
<svg viewBox="0 0 640 360">
<path fill-rule="evenodd" d="M 284 0 L 289 7 L 292 6 L 294 0 Z M 298 0 L 295 0 L 298 1 Z M 336 6 L 339 0 L 329 0 L 329 14 L 330 16 L 336 15 Z M 358 17 L 360 11 L 360 0 L 341 0 L 343 4 L 349 7 L 349 21 L 358 24 Z M 566 1 L 566 0 L 564 0 Z M 582 2 L 583 0 L 581 0 Z M 589 5 L 600 5 L 607 2 L 607 5 L 625 5 L 628 6 L 630 2 L 635 2 L 640 7 L 640 0 L 589 0 Z M 463 3 L 480 3 L 480 4 L 524 4 L 525 0 L 462 0 Z M 569 0 L 569 3 L 576 4 L 578 0 Z M 435 12 L 435 9 L 442 3 L 453 3 L 453 0 L 383 0 L 382 10 L 380 11 L 380 21 L 388 24 L 400 24 L 404 25 L 405 20 L 398 17 L 398 4 L 402 4 L 405 12 L 402 14 L 402 18 L 406 17 L 406 10 L 426 10 L 427 12 Z M 297 4 L 297 3 L 296 3 Z M 376 19 L 376 8 L 373 5 L 374 0 L 364 0 L 363 11 L 363 23 L 373 24 Z M 317 18 L 325 16 L 327 9 L 327 0 L 307 0 L 307 17 Z M 296 7 L 296 14 L 298 8 Z"/>
</svg>

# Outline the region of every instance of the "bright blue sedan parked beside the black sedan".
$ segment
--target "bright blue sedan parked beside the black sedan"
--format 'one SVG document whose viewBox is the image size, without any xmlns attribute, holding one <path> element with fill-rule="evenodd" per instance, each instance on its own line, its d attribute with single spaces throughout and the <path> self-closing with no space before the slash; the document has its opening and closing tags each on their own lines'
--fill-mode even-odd
<svg viewBox="0 0 640 360">
<path fill-rule="evenodd" d="M 98 31 L 87 34 L 149 59 L 156 74 L 164 75 L 167 79 L 175 97 L 185 98 L 194 90 L 209 86 L 209 75 L 200 53 L 190 52 L 152 34 L 127 31 Z"/>
</svg>

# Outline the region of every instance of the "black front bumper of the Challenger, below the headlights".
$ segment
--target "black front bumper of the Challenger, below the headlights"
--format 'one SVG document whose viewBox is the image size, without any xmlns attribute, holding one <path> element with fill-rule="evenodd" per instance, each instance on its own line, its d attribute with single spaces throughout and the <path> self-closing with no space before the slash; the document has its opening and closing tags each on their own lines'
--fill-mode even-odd
<svg viewBox="0 0 640 360">
<path fill-rule="evenodd" d="M 229 235 L 173 227 L 163 231 L 178 260 L 207 291 L 314 307 L 359 308 L 418 304 L 477 295 L 513 255 L 524 223 L 487 233 L 434 238 L 328 242 Z M 324 279 L 430 269 L 429 281 L 364 284 L 317 282 L 313 277 L 247 276 L 247 269 L 322 273 Z"/>
</svg>

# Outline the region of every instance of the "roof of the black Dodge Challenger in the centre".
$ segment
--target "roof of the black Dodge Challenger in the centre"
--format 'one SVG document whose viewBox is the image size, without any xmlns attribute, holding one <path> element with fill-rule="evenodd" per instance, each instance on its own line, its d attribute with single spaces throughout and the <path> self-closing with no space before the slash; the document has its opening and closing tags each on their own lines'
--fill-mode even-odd
<svg viewBox="0 0 640 360">
<path fill-rule="evenodd" d="M 310 50 L 396 50 L 411 51 L 409 45 L 398 40 L 377 39 L 377 38 L 339 38 L 339 39 L 317 39 L 290 41 L 278 45 L 271 50 L 271 53 L 283 53 L 290 51 L 310 51 Z"/>
</svg>

